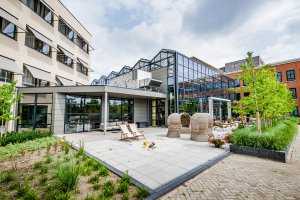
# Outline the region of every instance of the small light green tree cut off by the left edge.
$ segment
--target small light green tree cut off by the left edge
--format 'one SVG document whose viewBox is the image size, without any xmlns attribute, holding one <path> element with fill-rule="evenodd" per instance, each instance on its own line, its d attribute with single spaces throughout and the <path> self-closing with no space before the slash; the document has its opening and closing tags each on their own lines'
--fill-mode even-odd
<svg viewBox="0 0 300 200">
<path fill-rule="evenodd" d="M 11 84 L 4 84 L 0 86 L 0 121 L 1 121 L 1 135 L 3 134 L 3 126 L 7 126 L 7 122 L 10 120 L 16 120 L 19 117 L 15 117 L 12 112 L 12 107 L 20 99 L 20 94 L 16 93 L 16 81 Z M 5 129 L 6 132 L 6 129 Z"/>
</svg>

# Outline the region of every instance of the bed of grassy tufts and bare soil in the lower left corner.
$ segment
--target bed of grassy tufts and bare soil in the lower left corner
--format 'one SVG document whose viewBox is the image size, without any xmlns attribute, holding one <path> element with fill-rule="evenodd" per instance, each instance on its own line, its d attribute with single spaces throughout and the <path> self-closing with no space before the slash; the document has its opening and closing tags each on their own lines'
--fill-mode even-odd
<svg viewBox="0 0 300 200">
<path fill-rule="evenodd" d="M 46 137 L 0 147 L 1 199 L 143 199 L 149 192 L 100 162 Z"/>
</svg>

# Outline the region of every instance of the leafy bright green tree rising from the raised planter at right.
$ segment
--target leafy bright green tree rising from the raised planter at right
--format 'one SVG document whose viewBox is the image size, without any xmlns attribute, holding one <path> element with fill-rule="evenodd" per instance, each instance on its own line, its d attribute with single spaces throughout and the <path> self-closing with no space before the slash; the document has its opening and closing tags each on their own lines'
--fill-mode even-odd
<svg viewBox="0 0 300 200">
<path fill-rule="evenodd" d="M 286 86 L 277 82 L 275 68 L 269 65 L 256 67 L 252 54 L 252 52 L 247 53 L 247 64 L 240 66 L 242 74 L 238 76 L 238 79 L 247 83 L 246 86 L 232 89 L 234 92 L 249 92 L 250 95 L 239 102 L 235 101 L 234 109 L 241 115 L 245 112 L 255 113 L 256 131 L 261 132 L 261 118 L 264 125 L 272 125 L 274 119 L 291 112 L 295 102 Z"/>
</svg>

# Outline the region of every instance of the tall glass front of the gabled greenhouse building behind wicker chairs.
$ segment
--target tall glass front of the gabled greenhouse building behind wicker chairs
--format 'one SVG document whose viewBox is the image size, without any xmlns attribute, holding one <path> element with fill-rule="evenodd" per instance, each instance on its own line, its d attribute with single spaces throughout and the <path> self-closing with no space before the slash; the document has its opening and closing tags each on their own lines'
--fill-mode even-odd
<svg viewBox="0 0 300 200">
<path fill-rule="evenodd" d="M 208 64 L 198 60 L 197 58 L 189 58 L 183 54 L 176 53 L 177 61 L 175 66 L 175 91 L 177 88 L 178 95 L 174 107 L 175 112 L 187 112 L 193 114 L 195 112 L 208 112 L 208 97 L 226 97 L 226 83 L 229 87 L 235 87 L 236 82 L 221 74 Z M 168 77 L 170 78 L 170 77 Z M 176 80 L 177 79 L 177 80 Z M 173 77 L 171 77 L 171 81 Z M 169 82 L 169 81 L 168 81 Z M 177 83 L 176 83 L 177 82 Z M 169 96 L 173 94 L 169 93 Z M 170 104 L 172 107 L 173 104 Z M 172 113 L 172 108 L 169 108 Z"/>
</svg>

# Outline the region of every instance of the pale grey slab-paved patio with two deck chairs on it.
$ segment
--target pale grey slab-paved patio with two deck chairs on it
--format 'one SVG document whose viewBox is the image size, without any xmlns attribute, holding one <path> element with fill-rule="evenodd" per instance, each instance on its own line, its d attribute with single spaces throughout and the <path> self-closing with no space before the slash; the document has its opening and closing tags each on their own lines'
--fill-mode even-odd
<svg viewBox="0 0 300 200">
<path fill-rule="evenodd" d="M 189 140 L 190 134 L 181 138 L 167 138 L 165 128 L 144 129 L 147 141 L 155 142 L 156 148 L 143 147 L 143 140 L 119 141 L 120 133 L 103 132 L 65 134 L 66 140 L 79 146 L 84 141 L 85 150 L 113 166 L 128 173 L 152 190 L 174 180 L 192 169 L 227 153 L 213 148 L 207 142 Z"/>
</svg>

